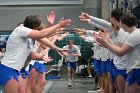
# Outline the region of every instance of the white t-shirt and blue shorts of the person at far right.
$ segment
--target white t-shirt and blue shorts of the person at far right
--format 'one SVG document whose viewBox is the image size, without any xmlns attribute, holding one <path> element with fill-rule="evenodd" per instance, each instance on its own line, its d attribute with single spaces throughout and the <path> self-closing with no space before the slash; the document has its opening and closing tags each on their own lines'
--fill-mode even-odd
<svg viewBox="0 0 140 93">
<path fill-rule="evenodd" d="M 126 44 L 130 45 L 134 49 L 127 54 L 127 81 L 129 86 L 131 84 L 137 83 L 140 85 L 140 30 L 130 33 L 126 40 Z"/>
</svg>

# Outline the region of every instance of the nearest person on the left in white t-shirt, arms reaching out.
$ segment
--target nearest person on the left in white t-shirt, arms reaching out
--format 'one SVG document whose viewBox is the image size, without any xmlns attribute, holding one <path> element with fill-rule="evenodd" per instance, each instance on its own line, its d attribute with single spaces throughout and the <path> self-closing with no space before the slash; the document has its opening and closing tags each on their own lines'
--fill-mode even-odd
<svg viewBox="0 0 140 93">
<path fill-rule="evenodd" d="M 24 66 L 31 52 L 28 38 L 35 39 L 56 51 L 62 52 L 64 49 L 56 47 L 49 41 L 44 40 L 43 37 L 54 33 L 57 29 L 65 27 L 70 23 L 70 19 L 63 19 L 52 27 L 38 31 L 37 29 L 41 25 L 41 17 L 30 15 L 25 18 L 23 24 L 17 26 L 12 31 L 7 41 L 5 56 L 2 58 L 0 64 L 0 85 L 4 86 L 4 93 L 22 93 L 18 90 L 18 72 Z M 32 59 L 32 56 L 30 57 Z"/>
</svg>

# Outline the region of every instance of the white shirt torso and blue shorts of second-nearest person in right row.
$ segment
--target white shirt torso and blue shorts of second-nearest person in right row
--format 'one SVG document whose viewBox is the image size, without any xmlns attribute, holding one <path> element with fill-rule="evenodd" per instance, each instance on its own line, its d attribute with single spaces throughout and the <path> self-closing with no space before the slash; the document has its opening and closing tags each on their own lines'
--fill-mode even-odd
<svg viewBox="0 0 140 93">
<path fill-rule="evenodd" d="M 114 39 L 114 43 L 116 45 L 119 45 L 119 43 L 123 44 L 126 39 L 127 36 L 129 35 L 127 32 L 124 32 L 124 30 L 122 28 L 120 28 L 120 30 L 117 33 L 113 33 L 113 39 Z M 113 82 L 116 82 L 116 78 L 118 75 L 121 75 L 125 80 L 127 78 L 127 73 L 126 73 L 126 56 L 122 56 L 119 57 L 117 55 L 114 56 L 114 60 L 113 63 L 115 65 L 115 67 L 113 67 L 113 71 L 112 71 L 112 75 L 113 75 Z"/>
</svg>

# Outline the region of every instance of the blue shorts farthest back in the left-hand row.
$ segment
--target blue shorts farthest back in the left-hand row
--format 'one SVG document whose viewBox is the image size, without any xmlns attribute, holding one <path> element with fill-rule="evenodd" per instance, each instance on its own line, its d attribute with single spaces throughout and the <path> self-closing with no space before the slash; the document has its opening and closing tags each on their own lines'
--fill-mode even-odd
<svg viewBox="0 0 140 93">
<path fill-rule="evenodd" d="M 46 71 L 46 66 L 43 63 L 39 63 L 38 61 L 36 61 L 34 65 L 30 65 L 29 71 L 31 71 L 32 68 L 35 68 L 41 74 Z"/>
</svg>

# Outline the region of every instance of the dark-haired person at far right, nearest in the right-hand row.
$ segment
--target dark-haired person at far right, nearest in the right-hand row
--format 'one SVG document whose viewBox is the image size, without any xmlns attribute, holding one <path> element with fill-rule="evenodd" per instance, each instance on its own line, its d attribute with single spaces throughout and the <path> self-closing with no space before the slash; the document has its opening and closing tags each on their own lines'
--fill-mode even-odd
<svg viewBox="0 0 140 93">
<path fill-rule="evenodd" d="M 116 46 L 104 37 L 97 37 L 101 46 L 108 48 L 118 56 L 126 55 L 127 82 L 125 93 L 139 93 L 140 91 L 140 30 L 135 27 L 136 17 L 124 15 L 121 17 L 121 27 L 129 32 L 127 40 L 121 47 Z"/>
</svg>

